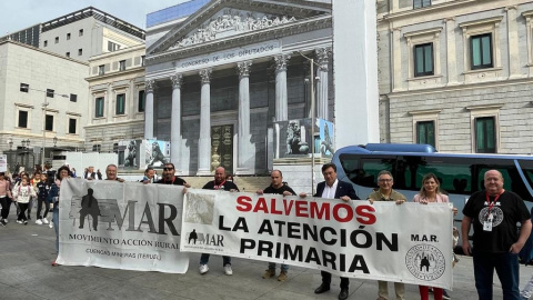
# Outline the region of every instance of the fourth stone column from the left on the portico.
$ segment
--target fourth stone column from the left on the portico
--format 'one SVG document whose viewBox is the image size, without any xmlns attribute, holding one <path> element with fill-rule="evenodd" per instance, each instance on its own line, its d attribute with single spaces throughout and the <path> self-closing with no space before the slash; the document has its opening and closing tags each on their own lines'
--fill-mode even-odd
<svg viewBox="0 0 533 300">
<path fill-rule="evenodd" d="M 239 71 L 239 153 L 237 173 L 248 174 L 253 168 L 253 150 L 250 142 L 250 67 L 251 61 L 237 64 Z"/>
</svg>

